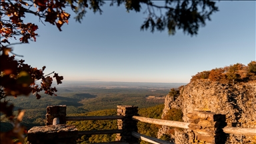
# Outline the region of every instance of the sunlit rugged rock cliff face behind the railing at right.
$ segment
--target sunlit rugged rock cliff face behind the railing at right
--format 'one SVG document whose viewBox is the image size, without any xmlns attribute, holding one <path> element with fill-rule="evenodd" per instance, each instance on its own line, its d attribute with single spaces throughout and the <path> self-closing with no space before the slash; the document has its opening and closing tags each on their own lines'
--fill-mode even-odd
<svg viewBox="0 0 256 144">
<path fill-rule="evenodd" d="M 183 121 L 188 122 L 187 113 L 211 111 L 226 115 L 227 126 L 256 128 L 256 83 L 223 84 L 216 81 L 196 80 L 181 87 L 179 95 L 167 95 L 164 117 L 168 109 L 182 109 Z M 169 127 L 162 127 L 158 136 L 168 133 Z M 187 130 L 175 131 L 175 143 L 188 143 Z M 251 143 L 253 135 L 230 134 L 228 143 Z M 256 142 L 256 141 L 255 141 Z"/>
</svg>

